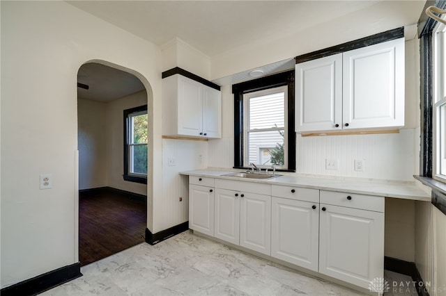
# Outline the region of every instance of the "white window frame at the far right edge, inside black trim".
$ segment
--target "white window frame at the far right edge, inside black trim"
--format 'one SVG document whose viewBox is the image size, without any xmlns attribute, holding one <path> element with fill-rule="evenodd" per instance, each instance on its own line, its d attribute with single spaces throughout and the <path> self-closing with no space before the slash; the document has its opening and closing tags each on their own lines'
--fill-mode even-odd
<svg viewBox="0 0 446 296">
<path fill-rule="evenodd" d="M 440 109 L 446 108 L 446 26 L 433 31 L 433 178 L 446 182 L 446 126 Z M 443 123 L 443 124 L 442 124 Z M 443 154 L 443 155 L 442 155 Z M 441 172 L 443 171 L 443 174 Z"/>
</svg>

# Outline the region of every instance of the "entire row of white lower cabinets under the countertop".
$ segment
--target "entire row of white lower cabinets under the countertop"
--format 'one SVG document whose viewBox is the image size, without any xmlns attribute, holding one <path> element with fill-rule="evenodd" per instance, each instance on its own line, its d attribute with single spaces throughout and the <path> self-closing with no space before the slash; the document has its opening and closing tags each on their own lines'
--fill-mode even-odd
<svg viewBox="0 0 446 296">
<path fill-rule="evenodd" d="M 362 288 L 383 278 L 384 197 L 193 176 L 189 194 L 194 231 Z"/>
</svg>

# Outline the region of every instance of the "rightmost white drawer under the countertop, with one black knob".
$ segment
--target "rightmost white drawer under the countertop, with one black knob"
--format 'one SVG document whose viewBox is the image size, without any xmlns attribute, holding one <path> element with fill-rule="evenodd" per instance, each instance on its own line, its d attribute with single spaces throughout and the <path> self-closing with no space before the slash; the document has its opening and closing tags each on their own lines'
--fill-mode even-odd
<svg viewBox="0 0 446 296">
<path fill-rule="evenodd" d="M 367 211 L 384 213 L 384 197 L 374 195 L 357 195 L 347 192 L 321 190 L 321 204 L 360 208 Z"/>
</svg>

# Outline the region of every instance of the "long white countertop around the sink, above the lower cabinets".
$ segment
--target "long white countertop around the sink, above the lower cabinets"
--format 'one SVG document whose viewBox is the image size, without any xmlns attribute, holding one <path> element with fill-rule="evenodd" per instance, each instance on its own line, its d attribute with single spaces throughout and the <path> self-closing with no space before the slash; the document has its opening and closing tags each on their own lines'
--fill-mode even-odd
<svg viewBox="0 0 446 296">
<path fill-rule="evenodd" d="M 424 192 L 413 182 L 397 182 L 397 181 L 381 181 L 353 178 L 330 178 L 324 176 L 305 176 L 299 174 L 290 174 L 278 172 L 282 176 L 273 179 L 245 179 L 231 176 L 222 176 L 232 172 L 240 172 L 240 170 L 222 170 L 222 169 L 205 169 L 180 172 L 183 175 L 190 176 L 207 176 L 211 178 L 230 179 L 243 182 L 267 183 L 272 185 L 286 185 L 300 188 L 313 188 L 320 190 L 330 190 L 338 192 L 357 193 L 362 195 L 378 195 L 383 197 L 394 197 L 399 199 L 413 199 L 420 201 L 431 201 L 431 196 Z"/>
</svg>

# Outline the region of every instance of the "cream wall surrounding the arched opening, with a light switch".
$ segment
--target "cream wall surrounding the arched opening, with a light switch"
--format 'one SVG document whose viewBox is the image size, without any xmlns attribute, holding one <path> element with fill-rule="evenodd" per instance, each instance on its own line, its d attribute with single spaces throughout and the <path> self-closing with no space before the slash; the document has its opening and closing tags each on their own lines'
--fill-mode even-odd
<svg viewBox="0 0 446 296">
<path fill-rule="evenodd" d="M 63 1 L 0 5 L 3 288 L 78 261 L 76 82 L 83 63 L 105 60 L 143 81 L 156 172 L 162 145 L 159 48 Z M 52 189 L 39 190 L 39 174 L 52 174 Z M 160 180 L 149 180 L 148 213 L 160 204 Z M 161 230 L 160 220 L 148 217 L 148 228 Z"/>
</svg>

